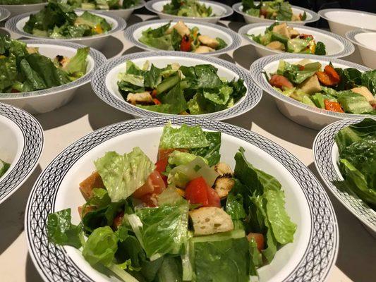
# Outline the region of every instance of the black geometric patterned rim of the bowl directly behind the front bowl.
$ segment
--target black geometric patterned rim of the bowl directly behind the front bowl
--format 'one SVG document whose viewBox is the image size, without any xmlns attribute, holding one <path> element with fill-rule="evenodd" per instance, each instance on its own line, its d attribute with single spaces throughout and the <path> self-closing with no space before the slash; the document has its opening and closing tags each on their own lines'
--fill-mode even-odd
<svg viewBox="0 0 376 282">
<path fill-rule="evenodd" d="M 216 63 L 219 66 L 223 66 L 228 68 L 230 71 L 239 75 L 239 78 L 244 80 L 245 86 L 248 89 L 247 94 L 243 97 L 241 102 L 238 102 L 234 106 L 229 109 L 225 109 L 224 111 L 218 111 L 212 114 L 202 114 L 202 115 L 195 115 L 195 117 L 202 117 L 202 118 L 212 118 L 217 120 L 222 120 L 226 118 L 234 118 L 235 116 L 239 116 L 244 114 L 250 109 L 253 109 L 254 106 L 260 102 L 262 97 L 262 90 L 260 87 L 257 87 L 254 83 L 252 78 L 250 78 L 250 74 L 245 69 L 236 66 L 234 63 L 229 63 L 228 61 L 224 61 L 222 59 L 217 59 L 211 56 L 203 56 L 198 54 L 186 53 L 186 52 L 170 52 L 170 51 L 158 51 L 158 52 L 140 52 L 140 53 L 133 53 L 128 54 L 126 56 L 121 56 L 119 58 L 110 59 L 107 63 L 99 68 L 92 77 L 92 89 L 97 94 L 97 96 L 102 99 L 104 102 L 113 106 L 116 109 L 124 111 L 128 114 L 133 116 L 141 116 L 141 117 L 153 117 L 153 116 L 174 116 L 170 114 L 162 114 L 157 113 L 155 111 L 148 111 L 145 109 L 138 108 L 137 106 L 133 106 L 126 102 L 122 98 L 115 97 L 106 87 L 106 78 L 109 72 L 115 68 L 116 66 L 125 63 L 128 60 L 135 60 L 135 59 L 143 59 L 145 61 L 152 57 L 152 56 L 159 56 L 159 57 L 169 57 L 169 56 L 178 56 L 183 58 L 193 58 L 193 59 L 200 59 L 201 61 L 206 61 L 207 63 Z"/>
</svg>

